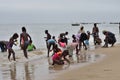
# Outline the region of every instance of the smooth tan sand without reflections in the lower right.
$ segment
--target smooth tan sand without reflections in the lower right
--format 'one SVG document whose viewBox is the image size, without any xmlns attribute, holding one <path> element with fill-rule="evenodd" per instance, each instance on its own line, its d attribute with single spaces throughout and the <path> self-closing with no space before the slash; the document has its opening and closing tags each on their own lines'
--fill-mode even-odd
<svg viewBox="0 0 120 80">
<path fill-rule="evenodd" d="M 120 80 L 120 44 L 92 50 L 106 57 L 96 63 L 65 71 L 54 80 Z"/>
</svg>

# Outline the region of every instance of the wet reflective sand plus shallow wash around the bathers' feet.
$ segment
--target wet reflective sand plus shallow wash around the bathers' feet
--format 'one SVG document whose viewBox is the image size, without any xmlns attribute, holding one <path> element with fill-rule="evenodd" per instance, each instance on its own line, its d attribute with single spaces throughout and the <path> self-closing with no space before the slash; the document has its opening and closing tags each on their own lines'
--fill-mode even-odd
<svg viewBox="0 0 120 80">
<path fill-rule="evenodd" d="M 94 49 L 94 47 L 91 47 L 91 49 Z M 51 58 L 46 57 L 46 50 L 38 49 L 28 52 L 29 59 L 24 57 L 21 50 L 15 52 L 16 62 L 8 61 L 7 52 L 0 53 L 0 80 L 53 80 L 64 72 L 103 60 L 102 57 L 104 56 L 103 54 L 96 54 L 94 51 L 83 50 L 81 51 L 83 59 L 78 59 L 76 55 L 73 55 L 71 64 L 51 66 L 52 61 Z"/>
</svg>

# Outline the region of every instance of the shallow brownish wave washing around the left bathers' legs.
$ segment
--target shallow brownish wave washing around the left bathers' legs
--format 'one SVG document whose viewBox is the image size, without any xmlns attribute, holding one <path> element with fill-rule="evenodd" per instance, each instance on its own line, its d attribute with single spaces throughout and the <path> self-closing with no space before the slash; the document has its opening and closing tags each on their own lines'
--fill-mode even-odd
<svg viewBox="0 0 120 80">
<path fill-rule="evenodd" d="M 26 63 L 26 62 L 30 62 L 30 61 L 34 61 L 36 59 L 40 59 L 42 57 L 42 55 L 44 56 L 44 50 L 40 50 L 40 49 L 36 49 L 34 51 L 30 51 L 28 52 L 28 59 L 26 59 L 24 57 L 24 53 L 22 50 L 18 49 L 18 50 L 14 50 L 15 51 L 15 57 L 16 57 L 16 61 L 13 60 L 13 57 L 11 55 L 11 61 L 8 60 L 7 56 L 8 56 L 8 52 L 0 52 L 0 65 L 4 65 L 4 64 L 12 64 L 12 63 Z"/>
</svg>

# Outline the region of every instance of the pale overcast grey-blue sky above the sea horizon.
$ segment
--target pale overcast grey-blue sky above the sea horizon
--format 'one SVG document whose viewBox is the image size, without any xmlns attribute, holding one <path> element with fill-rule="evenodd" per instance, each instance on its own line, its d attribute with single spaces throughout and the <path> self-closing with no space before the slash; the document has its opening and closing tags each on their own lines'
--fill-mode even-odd
<svg viewBox="0 0 120 80">
<path fill-rule="evenodd" d="M 0 24 L 118 22 L 120 0 L 0 0 Z"/>
</svg>

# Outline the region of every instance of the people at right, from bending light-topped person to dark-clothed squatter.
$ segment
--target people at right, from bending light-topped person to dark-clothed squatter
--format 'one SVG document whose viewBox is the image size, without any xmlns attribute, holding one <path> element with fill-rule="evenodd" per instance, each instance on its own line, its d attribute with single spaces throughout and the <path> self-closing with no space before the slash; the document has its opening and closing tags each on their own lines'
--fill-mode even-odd
<svg viewBox="0 0 120 80">
<path fill-rule="evenodd" d="M 80 34 L 79 34 L 80 33 Z M 105 35 L 105 39 L 104 39 L 104 46 L 103 47 L 108 47 L 108 44 L 111 44 L 111 46 L 114 45 L 114 43 L 116 42 L 116 37 L 115 34 L 107 31 L 107 30 L 103 30 L 102 32 Z M 92 33 L 90 33 L 89 31 L 87 31 L 87 33 L 85 33 L 84 31 L 84 27 L 82 26 L 78 32 L 79 36 L 79 43 L 81 46 L 81 42 L 83 43 L 83 46 L 85 46 L 85 49 L 87 49 L 86 45 L 89 45 L 89 38 L 90 35 L 93 36 L 93 42 L 94 45 L 100 45 L 102 43 L 101 38 L 99 37 L 99 28 L 97 26 L 97 23 L 94 23 L 94 27 L 92 29 Z"/>
</svg>

